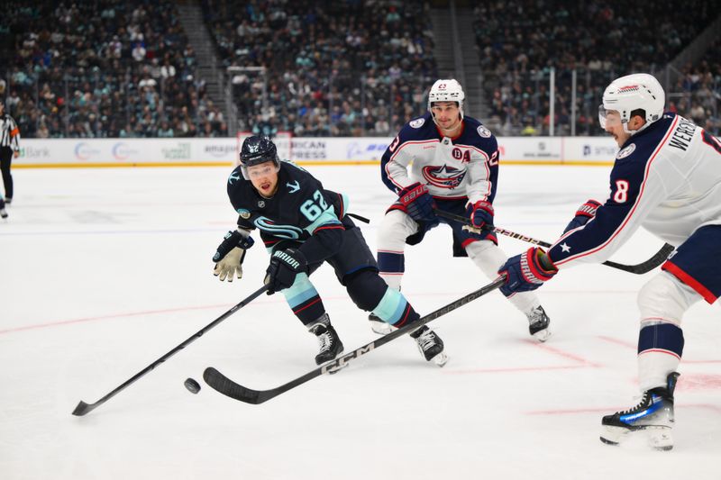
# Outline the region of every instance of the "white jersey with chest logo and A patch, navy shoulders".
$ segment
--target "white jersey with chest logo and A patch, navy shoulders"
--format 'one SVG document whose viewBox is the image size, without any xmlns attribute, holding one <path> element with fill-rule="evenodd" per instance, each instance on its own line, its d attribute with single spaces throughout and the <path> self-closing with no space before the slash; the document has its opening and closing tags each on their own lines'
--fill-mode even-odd
<svg viewBox="0 0 721 480">
<path fill-rule="evenodd" d="M 431 113 L 426 113 L 401 129 L 380 159 L 380 169 L 383 183 L 395 193 L 420 182 L 437 198 L 493 202 L 498 144 L 486 127 L 470 117 L 463 119 L 458 137 L 443 137 Z"/>
</svg>

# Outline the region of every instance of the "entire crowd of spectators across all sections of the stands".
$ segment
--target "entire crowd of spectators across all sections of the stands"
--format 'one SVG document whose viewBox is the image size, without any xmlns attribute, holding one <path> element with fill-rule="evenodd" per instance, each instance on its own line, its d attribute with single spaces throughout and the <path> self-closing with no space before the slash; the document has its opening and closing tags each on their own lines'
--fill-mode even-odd
<svg viewBox="0 0 721 480">
<path fill-rule="evenodd" d="M 389 136 L 424 113 L 438 77 L 427 3 L 198 1 L 232 107 L 207 95 L 174 3 L 10 0 L 0 97 L 23 137 L 232 136 L 230 117 L 237 131 Z M 622 0 L 483 2 L 474 15 L 488 105 L 480 120 L 501 136 L 549 133 L 552 68 L 554 133 L 602 134 L 604 86 L 633 71 L 663 80 L 717 16 L 713 0 L 689 0 L 683 14 Z M 665 85 L 671 110 L 716 135 L 719 46 Z"/>
</svg>

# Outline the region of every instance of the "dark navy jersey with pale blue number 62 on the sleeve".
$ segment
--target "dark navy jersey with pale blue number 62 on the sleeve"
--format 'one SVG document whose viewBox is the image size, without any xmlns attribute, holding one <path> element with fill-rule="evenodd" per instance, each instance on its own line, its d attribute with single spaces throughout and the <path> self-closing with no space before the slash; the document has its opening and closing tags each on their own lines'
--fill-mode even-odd
<svg viewBox="0 0 721 480">
<path fill-rule="evenodd" d="M 320 258 L 312 251 L 304 250 L 308 260 L 322 259 L 332 254 L 331 231 L 344 230 L 340 218 L 345 214 L 345 199 L 339 194 L 324 190 L 319 180 L 295 164 L 282 161 L 278 172 L 278 191 L 272 198 L 261 196 L 250 180 L 242 177 L 241 167 L 233 170 L 228 178 L 228 196 L 235 212 L 238 226 L 245 230 L 259 229 L 266 246 L 280 240 L 296 240 L 305 243 L 311 237 L 325 237 L 326 249 Z"/>
</svg>

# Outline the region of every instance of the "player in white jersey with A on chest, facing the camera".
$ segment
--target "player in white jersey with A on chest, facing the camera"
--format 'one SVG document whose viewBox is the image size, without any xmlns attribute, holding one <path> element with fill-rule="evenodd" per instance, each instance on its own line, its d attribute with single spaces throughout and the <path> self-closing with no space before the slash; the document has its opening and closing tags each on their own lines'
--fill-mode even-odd
<svg viewBox="0 0 721 480">
<path fill-rule="evenodd" d="M 463 100 L 456 80 L 436 81 L 428 94 L 428 113 L 408 122 L 380 160 L 383 183 L 398 195 L 378 236 L 380 276 L 392 288 L 400 288 L 406 270 L 406 244 L 420 243 L 441 222 L 451 226 L 453 256 L 470 257 L 488 278 L 496 278 L 507 259 L 492 230 L 499 159 L 496 137 L 478 120 L 464 116 Z M 463 224 L 437 216 L 434 209 L 464 215 L 485 230 L 465 231 Z M 525 313 L 531 335 L 548 339 L 550 320 L 534 293 L 508 295 L 508 300 Z M 390 331 L 374 315 L 369 320 L 373 331 Z"/>
</svg>

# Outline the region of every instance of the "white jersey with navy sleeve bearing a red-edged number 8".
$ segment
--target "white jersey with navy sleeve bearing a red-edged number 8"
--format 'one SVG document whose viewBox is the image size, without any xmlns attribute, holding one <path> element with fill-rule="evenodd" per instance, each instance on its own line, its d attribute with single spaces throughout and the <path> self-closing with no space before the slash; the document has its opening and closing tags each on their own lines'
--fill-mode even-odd
<svg viewBox="0 0 721 480">
<path fill-rule="evenodd" d="M 665 113 L 626 140 L 610 187 L 596 216 L 549 250 L 557 267 L 604 261 L 641 226 L 679 246 L 698 228 L 721 224 L 721 143 L 693 122 Z"/>
</svg>

